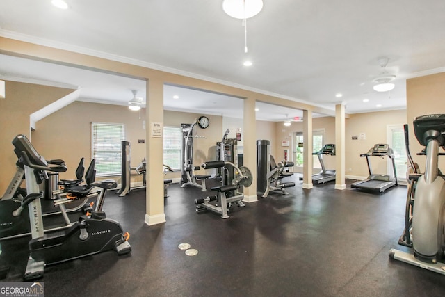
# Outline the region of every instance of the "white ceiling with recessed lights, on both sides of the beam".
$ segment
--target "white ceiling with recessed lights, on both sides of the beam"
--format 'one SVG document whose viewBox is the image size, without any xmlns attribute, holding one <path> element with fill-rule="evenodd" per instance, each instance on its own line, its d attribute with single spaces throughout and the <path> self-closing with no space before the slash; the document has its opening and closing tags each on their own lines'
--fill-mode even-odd
<svg viewBox="0 0 445 297">
<path fill-rule="evenodd" d="M 443 0 L 263 0 L 248 19 L 248 54 L 241 20 L 223 12 L 222 0 L 66 1 L 68 10 L 50 0 L 0 1 L 0 35 L 327 109 L 343 101 L 347 113 L 403 109 L 407 78 L 445 71 Z M 372 89 L 381 56 L 397 76 L 391 93 Z M 245 58 L 254 64 L 243 66 Z M 0 76 L 80 88 L 82 99 L 95 102 L 126 104 L 131 90 L 145 97 L 144 81 L 10 56 L 0 55 Z M 241 99 L 174 86 L 164 93 L 166 109 L 241 117 Z M 261 120 L 300 115 L 257 107 Z"/>
</svg>

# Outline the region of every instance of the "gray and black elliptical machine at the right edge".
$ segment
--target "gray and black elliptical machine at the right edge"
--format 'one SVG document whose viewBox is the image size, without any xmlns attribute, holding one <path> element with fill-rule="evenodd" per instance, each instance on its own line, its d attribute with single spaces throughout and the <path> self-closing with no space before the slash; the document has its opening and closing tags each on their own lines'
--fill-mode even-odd
<svg viewBox="0 0 445 297">
<path fill-rule="evenodd" d="M 389 257 L 445 275 L 445 176 L 437 166 L 438 156 L 444 155 L 439 147 L 445 148 L 445 114 L 422 115 L 413 124 L 417 141 L 426 146 L 420 153 L 426 155 L 426 168 L 423 175 L 409 175 L 405 230 L 399 240 L 413 252 L 391 248 Z M 416 168 L 411 156 L 408 160 Z"/>
</svg>

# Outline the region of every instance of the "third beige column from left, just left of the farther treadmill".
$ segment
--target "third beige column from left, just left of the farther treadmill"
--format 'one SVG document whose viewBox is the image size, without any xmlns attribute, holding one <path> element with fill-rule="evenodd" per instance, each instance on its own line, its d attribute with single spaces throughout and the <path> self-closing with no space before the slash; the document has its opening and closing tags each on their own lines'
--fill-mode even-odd
<svg viewBox="0 0 445 297">
<path fill-rule="evenodd" d="M 312 111 L 303 111 L 303 188 L 312 188 Z"/>
</svg>

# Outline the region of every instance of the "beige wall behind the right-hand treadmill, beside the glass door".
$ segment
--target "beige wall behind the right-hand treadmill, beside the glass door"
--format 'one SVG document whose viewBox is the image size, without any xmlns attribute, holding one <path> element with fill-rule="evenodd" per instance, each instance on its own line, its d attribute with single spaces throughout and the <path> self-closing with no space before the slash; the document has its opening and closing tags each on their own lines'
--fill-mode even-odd
<svg viewBox="0 0 445 297">
<path fill-rule="evenodd" d="M 387 143 L 387 125 L 403 125 L 406 111 L 381 111 L 374 113 L 355 113 L 346 119 L 346 175 L 367 177 L 369 175 L 366 159 L 360 154 L 368 152 L 376 143 Z M 352 140 L 353 136 L 364 133 L 366 139 Z M 369 158 L 374 173 L 387 174 L 387 158 Z M 399 172 L 399 177 L 401 173 Z M 405 172 L 403 172 L 405 175 Z"/>
</svg>

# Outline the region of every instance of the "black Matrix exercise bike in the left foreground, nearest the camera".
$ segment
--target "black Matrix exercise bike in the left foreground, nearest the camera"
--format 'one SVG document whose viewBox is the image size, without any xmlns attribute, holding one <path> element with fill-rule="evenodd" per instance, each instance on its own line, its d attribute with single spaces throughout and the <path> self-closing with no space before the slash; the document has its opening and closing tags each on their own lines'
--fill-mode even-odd
<svg viewBox="0 0 445 297">
<path fill-rule="evenodd" d="M 131 246 L 127 241 L 128 232 L 124 234 L 120 224 L 106 218 L 102 211 L 104 196 L 102 196 L 102 201 L 99 201 L 97 210 L 90 216 L 81 216 L 74 225 L 63 231 L 44 234 L 40 205 L 42 195 L 38 184 L 47 178 L 47 171 L 63 172 L 66 168 L 65 166 L 48 166 L 24 135 L 16 136 L 13 145 L 17 152 L 20 152 L 20 161 L 24 164 L 28 195 L 22 204 L 28 207 L 32 222 L 32 239 L 29 241 L 30 256 L 24 280 L 42 278 L 46 265 L 58 264 L 107 250 L 115 250 L 118 255 L 131 252 Z M 102 188 L 102 191 L 117 186 L 111 181 L 90 182 L 90 184 Z M 78 186 L 73 192 L 81 193 L 81 191 L 83 189 Z"/>
</svg>

